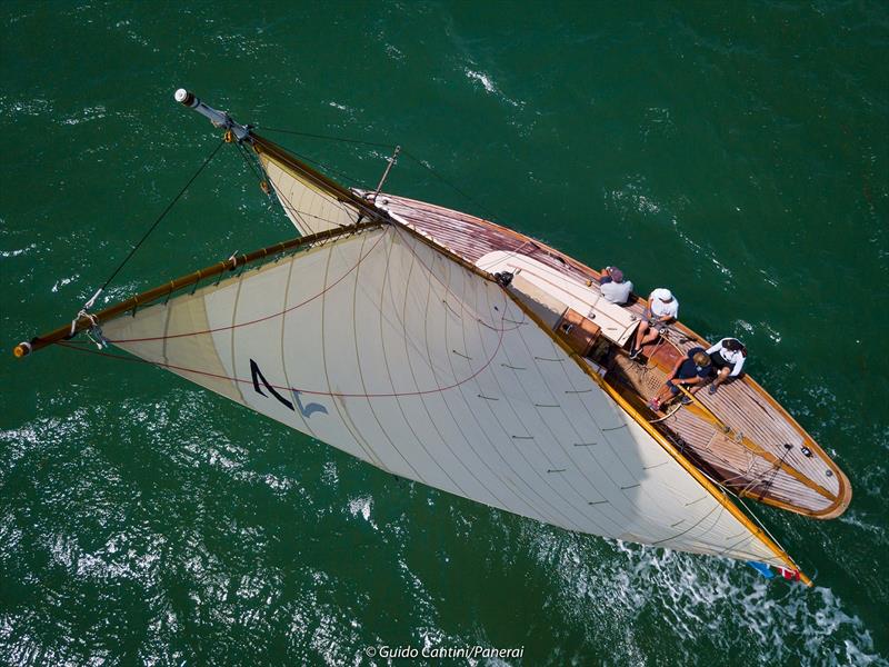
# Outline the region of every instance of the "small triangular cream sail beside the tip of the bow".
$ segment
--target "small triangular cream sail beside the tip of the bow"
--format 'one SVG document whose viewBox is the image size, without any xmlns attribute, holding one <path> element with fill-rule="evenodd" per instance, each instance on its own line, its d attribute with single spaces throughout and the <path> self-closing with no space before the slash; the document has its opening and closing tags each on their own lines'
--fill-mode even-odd
<svg viewBox="0 0 889 667">
<path fill-rule="evenodd" d="M 359 212 L 352 205 L 340 201 L 326 189 L 319 188 L 294 166 L 263 151 L 259 143 L 257 155 L 281 207 L 301 235 L 348 227 L 358 221 Z"/>
</svg>

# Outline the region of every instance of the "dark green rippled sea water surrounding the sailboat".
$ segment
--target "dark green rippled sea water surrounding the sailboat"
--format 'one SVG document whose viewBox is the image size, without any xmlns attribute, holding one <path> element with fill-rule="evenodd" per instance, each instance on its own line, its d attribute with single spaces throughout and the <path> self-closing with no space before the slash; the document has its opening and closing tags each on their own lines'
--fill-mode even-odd
<svg viewBox="0 0 889 667">
<path fill-rule="evenodd" d="M 0 30 L 0 664 L 886 664 L 886 2 L 7 0 Z M 617 263 L 742 338 L 852 482 L 837 520 L 758 509 L 815 587 L 410 484 L 159 369 L 13 360 L 218 141 L 179 86 L 399 143 L 444 180 L 402 159 L 389 190 Z M 268 136 L 366 186 L 384 168 Z M 291 236 L 226 147 L 109 296 Z"/>
</svg>

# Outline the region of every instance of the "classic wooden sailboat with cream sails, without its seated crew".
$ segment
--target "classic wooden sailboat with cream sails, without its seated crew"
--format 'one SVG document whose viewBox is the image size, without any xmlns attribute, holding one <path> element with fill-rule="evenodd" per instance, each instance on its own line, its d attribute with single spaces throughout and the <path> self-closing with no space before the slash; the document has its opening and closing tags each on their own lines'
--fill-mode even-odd
<svg viewBox="0 0 889 667">
<path fill-rule="evenodd" d="M 349 189 L 174 97 L 252 157 L 300 236 L 93 311 L 97 292 L 17 357 L 86 335 L 393 475 L 811 584 L 746 501 L 835 518 L 849 480 L 749 376 L 652 411 L 675 360 L 709 347 L 700 336 L 677 322 L 632 361 L 647 302 L 607 301 L 597 271 L 383 181 Z"/>
</svg>

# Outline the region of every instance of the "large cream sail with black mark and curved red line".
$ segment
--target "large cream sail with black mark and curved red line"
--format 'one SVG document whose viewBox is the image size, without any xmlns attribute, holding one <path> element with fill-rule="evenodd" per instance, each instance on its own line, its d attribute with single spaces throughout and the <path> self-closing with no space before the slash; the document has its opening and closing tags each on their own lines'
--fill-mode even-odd
<svg viewBox="0 0 889 667">
<path fill-rule="evenodd" d="M 383 470 L 569 530 L 787 565 L 497 283 L 397 225 L 103 325 Z"/>
</svg>

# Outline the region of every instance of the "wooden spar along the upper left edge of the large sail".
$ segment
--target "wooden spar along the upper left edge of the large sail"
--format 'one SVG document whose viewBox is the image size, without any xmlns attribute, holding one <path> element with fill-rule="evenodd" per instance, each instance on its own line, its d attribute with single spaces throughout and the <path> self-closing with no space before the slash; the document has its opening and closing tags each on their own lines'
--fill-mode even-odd
<svg viewBox="0 0 889 667">
<path fill-rule="evenodd" d="M 18 358 L 27 357 L 31 352 L 36 352 L 37 350 L 50 346 L 54 342 L 69 340 L 80 331 L 90 329 L 91 327 L 100 325 L 103 321 L 108 321 L 109 319 L 112 319 L 119 315 L 123 315 L 128 310 L 132 310 L 133 308 L 138 308 L 139 306 L 147 306 L 152 301 L 157 301 L 162 297 L 169 296 L 182 289 L 183 287 L 196 285 L 197 282 L 206 278 L 212 278 L 214 276 L 220 276 L 227 271 L 233 271 L 239 267 L 243 267 L 250 263 L 256 263 L 257 261 L 260 261 L 268 257 L 272 257 L 274 255 L 279 255 L 281 252 L 287 252 L 288 250 L 294 250 L 303 246 L 311 246 L 320 241 L 327 241 L 341 236 L 357 233 L 359 231 L 364 231 L 366 229 L 380 227 L 381 225 L 383 225 L 382 221 L 372 220 L 369 222 L 360 222 L 358 225 L 352 225 L 350 227 L 334 227 L 332 229 L 319 231 L 318 233 L 313 233 L 311 236 L 300 237 L 291 239 L 289 241 L 281 241 L 280 243 L 276 243 L 274 246 L 260 248 L 259 250 L 254 250 L 253 252 L 248 252 L 247 255 L 241 255 L 240 257 L 231 257 L 224 261 L 217 262 L 199 271 L 189 273 L 188 276 L 182 276 L 181 278 L 177 278 L 176 280 L 170 280 L 170 282 L 166 285 L 156 287 L 148 291 L 143 291 L 140 295 L 131 297 L 124 301 L 120 301 L 119 303 L 114 303 L 113 306 L 109 306 L 108 308 L 99 310 L 98 312 L 91 312 L 88 316 L 81 315 L 74 320 L 73 330 L 72 330 L 72 325 L 66 325 L 63 327 L 59 327 L 54 331 L 50 331 L 49 334 L 43 334 L 42 336 L 36 336 L 34 338 L 31 338 L 31 340 L 28 340 L 26 342 L 20 342 L 19 345 L 17 345 L 12 350 L 12 354 Z"/>
</svg>

